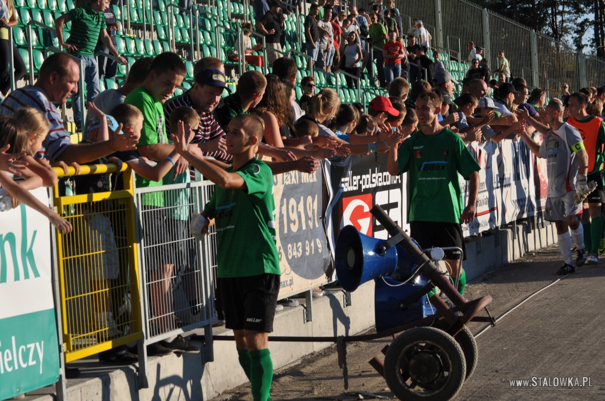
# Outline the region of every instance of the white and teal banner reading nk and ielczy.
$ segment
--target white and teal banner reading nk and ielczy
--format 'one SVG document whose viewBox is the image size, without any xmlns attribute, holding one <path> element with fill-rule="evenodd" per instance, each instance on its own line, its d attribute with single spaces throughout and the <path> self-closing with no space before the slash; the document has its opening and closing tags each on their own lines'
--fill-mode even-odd
<svg viewBox="0 0 605 401">
<path fill-rule="evenodd" d="M 45 188 L 31 191 L 48 204 Z M 0 212 L 0 399 L 57 382 L 50 223 L 21 205 Z"/>
</svg>

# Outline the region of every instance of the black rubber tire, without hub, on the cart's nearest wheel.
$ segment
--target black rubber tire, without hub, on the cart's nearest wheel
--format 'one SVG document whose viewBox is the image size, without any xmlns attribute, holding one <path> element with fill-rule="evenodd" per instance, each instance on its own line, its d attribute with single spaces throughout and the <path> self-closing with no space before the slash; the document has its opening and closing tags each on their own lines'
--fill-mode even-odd
<svg viewBox="0 0 605 401">
<path fill-rule="evenodd" d="M 399 373 L 399 360 L 408 348 L 427 342 L 439 348 L 441 356 L 446 358 L 446 362 L 449 364 L 449 375 L 445 384 L 432 393 L 417 393 L 407 383 L 402 382 Z M 437 401 L 453 399 L 462 388 L 465 375 L 466 361 L 462 348 L 450 334 L 434 327 L 414 327 L 399 334 L 388 347 L 384 358 L 385 380 L 388 388 L 399 400 Z"/>
</svg>

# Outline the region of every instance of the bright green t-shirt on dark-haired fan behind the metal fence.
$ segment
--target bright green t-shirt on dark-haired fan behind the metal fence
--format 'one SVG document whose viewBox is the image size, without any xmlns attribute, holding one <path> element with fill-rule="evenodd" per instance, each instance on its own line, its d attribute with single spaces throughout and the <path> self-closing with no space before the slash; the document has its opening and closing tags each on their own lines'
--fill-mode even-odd
<svg viewBox="0 0 605 401">
<path fill-rule="evenodd" d="M 162 102 L 156 102 L 153 97 L 139 86 L 126 96 L 124 103 L 133 105 L 143 113 L 143 128 L 141 137 L 137 146 L 157 145 L 166 143 L 166 123 L 164 117 L 164 108 Z M 162 185 L 162 181 L 151 181 L 136 175 L 137 188 L 152 187 Z M 151 192 L 143 195 L 141 198 L 145 206 L 164 206 L 164 197 L 162 192 Z"/>
</svg>

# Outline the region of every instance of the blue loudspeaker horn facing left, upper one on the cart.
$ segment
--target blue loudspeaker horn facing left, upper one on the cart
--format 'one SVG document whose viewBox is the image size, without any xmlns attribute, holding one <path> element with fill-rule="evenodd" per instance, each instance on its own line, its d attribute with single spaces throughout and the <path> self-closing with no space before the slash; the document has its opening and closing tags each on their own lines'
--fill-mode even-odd
<svg viewBox="0 0 605 401">
<path fill-rule="evenodd" d="M 353 226 L 341 230 L 336 240 L 336 275 L 343 289 L 355 291 L 366 281 L 395 272 L 397 247 L 379 252 L 386 242 L 364 235 Z"/>
</svg>

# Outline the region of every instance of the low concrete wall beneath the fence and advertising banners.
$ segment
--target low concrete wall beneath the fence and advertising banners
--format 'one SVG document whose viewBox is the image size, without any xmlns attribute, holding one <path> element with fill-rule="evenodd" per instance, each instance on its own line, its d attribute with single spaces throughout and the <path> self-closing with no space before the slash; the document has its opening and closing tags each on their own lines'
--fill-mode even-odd
<svg viewBox="0 0 605 401">
<path fill-rule="evenodd" d="M 548 223 L 547 223 L 548 224 Z M 513 235 L 515 233 L 515 235 Z M 529 229 L 528 224 L 503 227 L 471 238 L 466 242 L 467 260 L 463 266 L 468 280 L 518 259 L 525 252 L 540 249 L 557 241 L 554 224 Z M 313 320 L 305 321 L 302 306 L 284 308 L 275 316 L 275 336 L 340 336 L 355 334 L 374 325 L 374 283 L 367 282 L 351 294 L 352 305 L 345 305 L 343 292 L 313 299 Z M 201 334 L 201 333 L 200 333 Z M 232 334 L 215 329 L 215 334 Z M 329 342 L 272 342 L 273 365 L 280 369 L 302 356 L 328 347 Z M 94 365 L 93 367 L 98 365 Z M 335 371 L 338 366 L 334 367 Z M 214 362 L 204 364 L 203 354 L 150 357 L 149 388 L 137 391 L 136 367 L 124 367 L 85 380 L 69 380 L 67 399 L 83 400 L 208 400 L 244 382 L 246 377 L 237 360 L 235 344 L 214 342 Z M 85 375 L 88 376 L 85 370 Z M 93 371 L 94 374 L 94 371 Z M 50 394 L 32 397 L 52 400 Z"/>
</svg>

